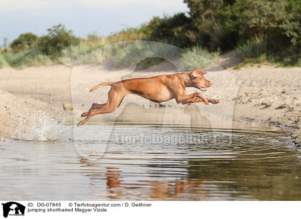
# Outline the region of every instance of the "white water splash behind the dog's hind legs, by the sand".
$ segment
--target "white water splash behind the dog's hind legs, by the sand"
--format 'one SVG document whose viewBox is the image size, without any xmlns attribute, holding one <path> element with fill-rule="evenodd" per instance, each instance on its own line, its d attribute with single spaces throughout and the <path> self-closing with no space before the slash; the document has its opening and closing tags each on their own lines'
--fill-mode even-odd
<svg viewBox="0 0 301 219">
<path fill-rule="evenodd" d="M 64 123 L 59 123 L 45 113 L 35 114 L 31 116 L 32 121 L 24 132 L 24 124 L 22 119 L 20 125 L 12 134 L 14 139 L 26 141 L 54 141 L 59 139 L 60 135 L 66 130 Z"/>
</svg>

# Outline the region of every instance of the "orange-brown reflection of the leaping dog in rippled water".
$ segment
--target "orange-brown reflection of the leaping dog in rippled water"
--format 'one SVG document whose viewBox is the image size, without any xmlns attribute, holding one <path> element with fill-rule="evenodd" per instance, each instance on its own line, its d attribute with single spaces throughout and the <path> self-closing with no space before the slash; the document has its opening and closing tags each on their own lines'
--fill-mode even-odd
<svg viewBox="0 0 301 219">
<path fill-rule="evenodd" d="M 106 196 L 110 199 L 125 199 L 135 196 L 136 193 L 141 193 L 141 199 L 144 200 L 173 200 L 183 199 L 186 194 L 198 194 L 195 200 L 202 200 L 207 196 L 206 180 L 180 178 L 172 181 L 167 180 L 138 180 L 134 182 L 126 182 L 122 175 L 126 174 L 117 167 L 101 168 L 101 164 L 91 164 L 88 160 L 81 158 L 82 167 L 87 168 L 99 167 L 99 171 L 93 173 L 84 172 L 85 176 L 89 177 L 90 191 L 93 196 L 104 195 L 103 187 L 99 187 L 103 181 L 106 184 Z M 93 168 L 94 169 L 94 168 Z M 103 172 L 105 171 L 105 173 Z"/>
</svg>

